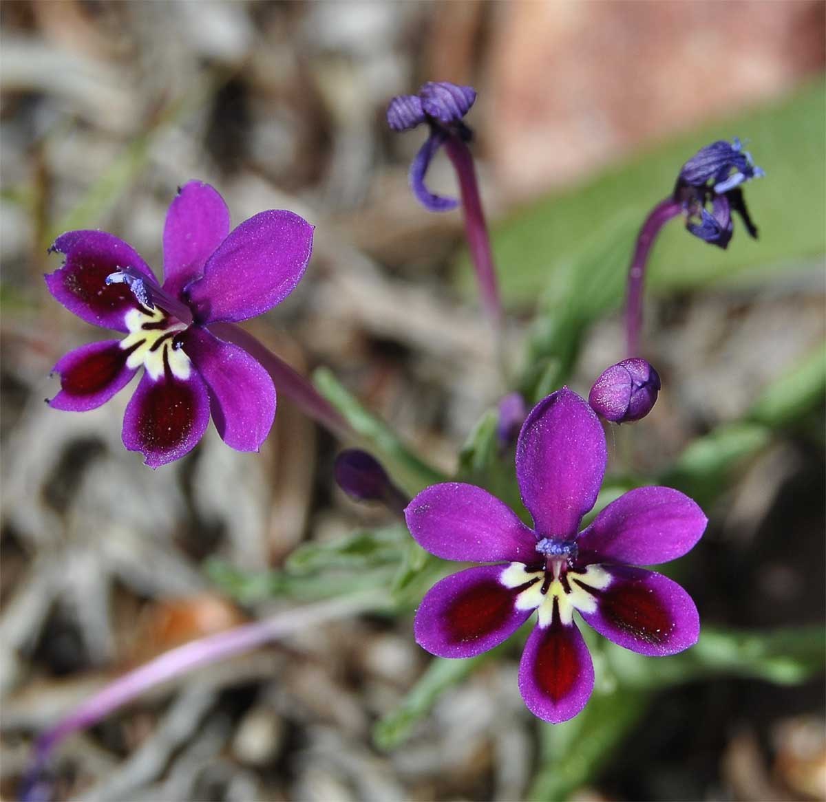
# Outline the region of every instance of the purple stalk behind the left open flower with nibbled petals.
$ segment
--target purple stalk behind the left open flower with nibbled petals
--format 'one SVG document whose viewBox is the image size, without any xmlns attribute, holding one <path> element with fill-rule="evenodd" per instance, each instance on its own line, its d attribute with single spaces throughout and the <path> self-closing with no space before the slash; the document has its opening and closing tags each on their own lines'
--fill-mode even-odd
<svg viewBox="0 0 826 802">
<path fill-rule="evenodd" d="M 283 392 L 287 398 L 292 399 L 308 418 L 320 423 L 341 440 L 356 438 L 349 423 L 320 395 L 311 382 L 264 347 L 252 334 L 235 323 L 211 323 L 207 328 L 216 337 L 233 342 L 254 356 L 273 377 L 276 392 Z"/>
</svg>

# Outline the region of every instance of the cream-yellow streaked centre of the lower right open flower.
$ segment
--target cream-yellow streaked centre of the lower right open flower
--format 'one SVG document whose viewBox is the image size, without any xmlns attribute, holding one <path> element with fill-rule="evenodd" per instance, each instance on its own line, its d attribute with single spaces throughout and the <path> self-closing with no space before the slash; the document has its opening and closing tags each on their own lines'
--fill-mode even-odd
<svg viewBox="0 0 826 802">
<path fill-rule="evenodd" d="M 542 542 L 539 541 L 540 544 Z M 553 559 L 550 568 L 539 571 L 523 563 L 511 563 L 502 571 L 499 581 L 505 587 L 527 584 L 528 587 L 516 597 L 516 609 L 539 611 L 539 626 L 544 627 L 553 620 L 554 606 L 565 625 L 572 623 L 574 610 L 586 613 L 596 611 L 596 597 L 592 591 L 604 590 L 610 585 L 611 577 L 599 565 L 588 565 L 582 571 L 572 571 L 570 568 L 563 571 L 563 560 Z"/>
</svg>

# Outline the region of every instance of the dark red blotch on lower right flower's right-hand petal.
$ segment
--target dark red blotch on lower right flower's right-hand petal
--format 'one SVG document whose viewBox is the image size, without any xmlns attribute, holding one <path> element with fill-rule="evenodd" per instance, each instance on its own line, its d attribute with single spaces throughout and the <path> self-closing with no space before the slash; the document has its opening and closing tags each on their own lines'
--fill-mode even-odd
<svg viewBox="0 0 826 802">
<path fill-rule="evenodd" d="M 598 598 L 601 615 L 618 630 L 643 643 L 667 643 L 674 629 L 674 619 L 650 587 L 631 580 L 612 583 L 604 591 L 590 587 L 586 590 Z"/>
</svg>

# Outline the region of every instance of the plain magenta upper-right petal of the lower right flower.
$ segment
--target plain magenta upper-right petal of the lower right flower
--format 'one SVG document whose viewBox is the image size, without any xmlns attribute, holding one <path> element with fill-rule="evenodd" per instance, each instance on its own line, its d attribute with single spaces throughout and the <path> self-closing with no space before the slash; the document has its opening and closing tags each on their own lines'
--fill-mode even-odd
<svg viewBox="0 0 826 802">
<path fill-rule="evenodd" d="M 579 536 L 584 562 L 653 565 L 690 551 L 708 519 L 672 488 L 637 488 L 611 502 Z"/>
</svg>

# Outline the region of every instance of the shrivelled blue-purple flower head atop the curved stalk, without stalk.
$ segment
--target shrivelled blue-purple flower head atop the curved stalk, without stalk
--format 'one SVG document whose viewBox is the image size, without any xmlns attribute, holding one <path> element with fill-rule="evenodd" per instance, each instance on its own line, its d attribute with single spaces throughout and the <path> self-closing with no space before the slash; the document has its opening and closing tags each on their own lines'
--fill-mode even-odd
<svg viewBox="0 0 826 802">
<path fill-rule="evenodd" d="M 743 218 L 748 234 L 757 238 L 740 185 L 763 175 L 737 137 L 732 144 L 720 140 L 700 149 L 683 165 L 674 188 L 686 228 L 695 237 L 726 248 L 733 234 L 733 210 Z"/>
</svg>

